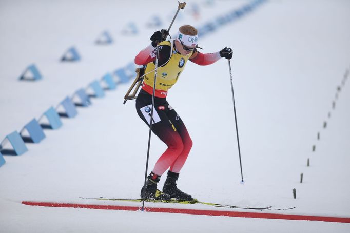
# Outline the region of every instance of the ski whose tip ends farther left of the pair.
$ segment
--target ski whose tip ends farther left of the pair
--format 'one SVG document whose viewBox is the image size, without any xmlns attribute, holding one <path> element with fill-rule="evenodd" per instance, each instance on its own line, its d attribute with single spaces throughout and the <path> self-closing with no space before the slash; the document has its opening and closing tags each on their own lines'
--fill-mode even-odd
<svg viewBox="0 0 350 233">
<path fill-rule="evenodd" d="M 143 199 L 123 199 L 123 198 L 105 198 L 105 197 L 99 197 L 99 198 L 86 198 L 86 197 L 80 197 L 82 199 L 93 199 L 93 200 L 100 200 L 100 201 L 125 201 L 125 202 L 142 202 Z M 214 207 L 221 207 L 221 208 L 235 208 L 235 209 L 253 209 L 253 210 L 265 210 L 265 209 L 271 209 L 272 206 L 267 207 L 243 207 L 243 206 L 234 206 L 234 205 L 225 205 L 225 204 L 217 204 L 217 203 L 209 203 L 209 202 L 201 202 L 197 199 L 193 199 L 191 201 L 185 201 L 185 200 L 178 200 L 175 198 L 171 198 L 170 200 L 160 200 L 160 199 L 145 199 L 145 202 L 153 202 L 153 203 L 178 203 L 178 204 L 203 204 L 203 205 L 209 205 Z"/>
</svg>

